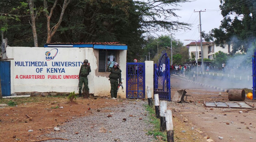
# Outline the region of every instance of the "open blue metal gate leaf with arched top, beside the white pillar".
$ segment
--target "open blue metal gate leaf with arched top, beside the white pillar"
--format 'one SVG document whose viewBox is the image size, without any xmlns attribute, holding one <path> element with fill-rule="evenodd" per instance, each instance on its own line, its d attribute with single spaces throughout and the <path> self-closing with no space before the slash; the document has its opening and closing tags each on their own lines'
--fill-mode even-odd
<svg viewBox="0 0 256 142">
<path fill-rule="evenodd" d="M 154 94 L 158 94 L 159 99 L 171 101 L 170 59 L 165 51 L 154 65 Z"/>
</svg>

